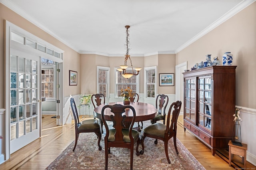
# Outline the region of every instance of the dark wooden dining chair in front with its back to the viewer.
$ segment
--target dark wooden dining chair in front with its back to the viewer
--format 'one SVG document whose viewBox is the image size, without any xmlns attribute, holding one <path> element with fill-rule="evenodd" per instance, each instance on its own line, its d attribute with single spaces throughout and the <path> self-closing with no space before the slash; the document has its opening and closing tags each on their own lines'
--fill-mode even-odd
<svg viewBox="0 0 256 170">
<path fill-rule="evenodd" d="M 104 112 L 106 109 L 111 109 L 112 114 L 110 119 L 113 122 L 113 128 L 109 128 L 104 117 Z M 126 112 L 132 112 L 132 122 L 130 122 L 130 127 L 125 127 L 124 122 L 127 122 Z M 134 107 L 130 105 L 105 105 L 101 111 L 102 121 L 106 128 L 106 136 L 104 137 L 105 143 L 105 170 L 108 169 L 108 154 L 110 153 L 110 147 L 119 147 L 119 148 L 130 148 L 130 169 L 132 170 L 133 164 L 133 149 L 134 144 L 137 142 L 136 146 L 136 155 L 139 156 L 138 146 L 140 144 L 139 132 L 132 129 L 135 119 L 136 111 Z"/>
</svg>

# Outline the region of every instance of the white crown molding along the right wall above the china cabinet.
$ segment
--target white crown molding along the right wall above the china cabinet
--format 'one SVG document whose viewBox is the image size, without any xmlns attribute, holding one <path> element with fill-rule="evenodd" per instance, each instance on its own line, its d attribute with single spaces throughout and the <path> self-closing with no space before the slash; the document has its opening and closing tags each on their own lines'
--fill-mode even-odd
<svg viewBox="0 0 256 170">
<path fill-rule="evenodd" d="M 188 47 L 188 45 L 192 44 L 193 42 L 195 42 L 196 40 L 198 40 L 202 36 L 206 35 L 208 32 L 212 31 L 214 28 L 216 28 L 217 26 L 219 26 L 220 24 L 222 24 L 223 22 L 225 22 L 226 20 L 228 20 L 229 18 L 231 18 L 232 16 L 234 16 L 235 14 L 237 14 L 238 12 L 240 12 L 241 10 L 243 10 L 244 8 L 246 8 L 247 6 L 252 4 L 253 2 L 255 2 L 255 0 L 243 0 L 242 2 L 240 2 L 239 4 L 234 6 L 234 8 L 232 8 L 231 10 L 226 12 L 226 14 L 221 16 L 218 20 L 216 20 L 215 22 L 210 24 L 210 26 L 206 27 L 199 34 L 194 36 L 192 39 L 188 40 L 188 42 L 186 42 L 182 46 L 178 47 L 178 49 L 176 49 L 175 53 L 178 53 L 182 49 Z"/>
</svg>

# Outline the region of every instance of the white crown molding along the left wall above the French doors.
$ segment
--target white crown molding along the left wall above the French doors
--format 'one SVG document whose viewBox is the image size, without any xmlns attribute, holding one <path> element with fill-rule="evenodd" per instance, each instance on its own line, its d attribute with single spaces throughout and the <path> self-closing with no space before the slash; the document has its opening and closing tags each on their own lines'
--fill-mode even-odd
<svg viewBox="0 0 256 170">
<path fill-rule="evenodd" d="M 0 3 L 4 4 L 4 6 L 10 8 L 12 11 L 16 12 L 17 14 L 19 14 L 20 16 L 22 16 L 23 18 L 25 18 L 26 20 L 28 20 L 29 22 L 31 22 L 32 24 L 34 24 L 35 26 L 37 26 L 38 28 L 43 30 L 44 32 L 50 34 L 51 36 L 53 36 L 60 42 L 64 43 L 68 47 L 70 47 L 70 48 L 74 49 L 76 52 L 78 52 L 78 49 L 76 49 L 73 45 L 71 45 L 70 43 L 66 42 L 65 40 L 63 40 L 62 38 L 60 38 L 59 36 L 54 34 L 54 32 L 52 32 L 51 30 L 46 28 L 44 25 L 40 24 L 33 17 L 28 15 L 24 10 L 17 7 L 14 3 L 10 2 L 9 0 L 0 0 Z"/>
</svg>

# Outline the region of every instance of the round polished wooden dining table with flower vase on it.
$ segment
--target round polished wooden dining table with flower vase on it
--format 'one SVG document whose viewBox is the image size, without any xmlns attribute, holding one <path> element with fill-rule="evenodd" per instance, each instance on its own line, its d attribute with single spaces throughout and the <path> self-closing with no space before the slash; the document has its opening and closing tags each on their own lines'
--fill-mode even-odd
<svg viewBox="0 0 256 170">
<path fill-rule="evenodd" d="M 110 103 L 105 103 L 102 105 L 99 105 L 94 109 L 95 112 L 95 117 L 98 119 L 101 119 L 101 110 L 104 107 L 104 105 L 115 105 L 115 104 L 121 104 L 124 105 L 123 102 L 110 102 Z M 131 102 L 130 105 L 134 107 L 136 111 L 136 119 L 135 122 L 140 122 L 140 121 L 147 121 L 150 119 L 153 119 L 157 115 L 157 109 L 153 105 L 150 105 L 148 103 L 142 103 L 142 102 Z M 110 108 L 106 108 L 104 111 L 104 117 L 106 121 L 111 121 L 110 115 L 113 113 L 110 111 Z M 131 109 L 126 109 L 125 110 L 125 115 L 126 115 L 126 121 L 131 122 L 132 121 L 132 110 Z"/>
</svg>

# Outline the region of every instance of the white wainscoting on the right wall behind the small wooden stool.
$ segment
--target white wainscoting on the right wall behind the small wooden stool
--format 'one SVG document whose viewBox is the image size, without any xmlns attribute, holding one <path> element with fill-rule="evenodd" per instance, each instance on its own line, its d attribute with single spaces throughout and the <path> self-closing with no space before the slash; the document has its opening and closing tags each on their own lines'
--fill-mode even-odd
<svg viewBox="0 0 256 170">
<path fill-rule="evenodd" d="M 246 160 L 256 166 L 256 109 L 240 109 L 242 143 L 247 144 Z"/>
</svg>

